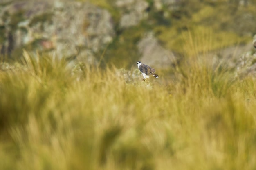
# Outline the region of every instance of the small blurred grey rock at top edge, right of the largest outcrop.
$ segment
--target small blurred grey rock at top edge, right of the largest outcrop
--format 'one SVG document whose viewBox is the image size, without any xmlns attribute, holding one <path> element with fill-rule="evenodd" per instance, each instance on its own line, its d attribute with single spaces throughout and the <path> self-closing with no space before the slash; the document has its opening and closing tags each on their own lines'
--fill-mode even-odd
<svg viewBox="0 0 256 170">
<path fill-rule="evenodd" d="M 122 13 L 120 27 L 128 28 L 147 17 L 146 9 L 149 5 L 144 0 L 117 0 L 116 6 Z"/>
</svg>

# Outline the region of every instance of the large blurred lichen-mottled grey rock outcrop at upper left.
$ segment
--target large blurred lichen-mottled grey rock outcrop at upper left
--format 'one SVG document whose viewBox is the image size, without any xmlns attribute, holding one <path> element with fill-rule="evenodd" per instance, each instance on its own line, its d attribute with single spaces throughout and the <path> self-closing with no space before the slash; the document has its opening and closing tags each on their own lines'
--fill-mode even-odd
<svg viewBox="0 0 256 170">
<path fill-rule="evenodd" d="M 17 1 L 0 10 L 1 55 L 30 47 L 57 57 L 90 58 L 115 36 L 110 13 L 76 1 Z"/>
</svg>

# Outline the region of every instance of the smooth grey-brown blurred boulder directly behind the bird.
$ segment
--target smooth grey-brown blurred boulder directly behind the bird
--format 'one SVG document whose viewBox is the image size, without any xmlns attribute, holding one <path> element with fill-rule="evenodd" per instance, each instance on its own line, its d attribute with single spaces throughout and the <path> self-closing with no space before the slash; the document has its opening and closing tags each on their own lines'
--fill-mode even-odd
<svg viewBox="0 0 256 170">
<path fill-rule="evenodd" d="M 163 48 L 153 33 L 145 35 L 138 44 L 139 52 L 141 53 L 141 62 L 146 65 L 151 65 L 154 68 L 169 68 L 176 62 L 176 57 L 173 52 Z"/>
</svg>

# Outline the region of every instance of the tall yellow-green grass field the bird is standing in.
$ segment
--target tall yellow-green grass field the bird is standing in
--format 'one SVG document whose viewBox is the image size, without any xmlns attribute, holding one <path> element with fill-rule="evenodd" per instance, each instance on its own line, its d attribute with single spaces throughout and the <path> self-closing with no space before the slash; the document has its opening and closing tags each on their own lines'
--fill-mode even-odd
<svg viewBox="0 0 256 170">
<path fill-rule="evenodd" d="M 146 83 L 136 61 L 129 74 L 24 51 L 0 70 L 0 169 L 255 170 L 255 79 L 186 43 Z"/>
</svg>

